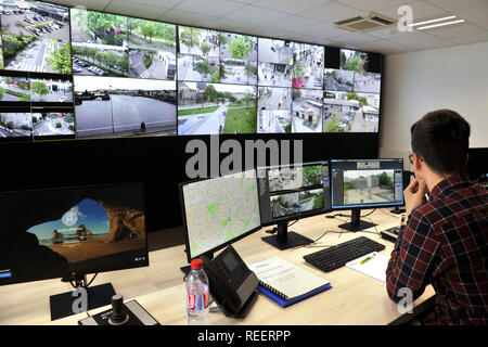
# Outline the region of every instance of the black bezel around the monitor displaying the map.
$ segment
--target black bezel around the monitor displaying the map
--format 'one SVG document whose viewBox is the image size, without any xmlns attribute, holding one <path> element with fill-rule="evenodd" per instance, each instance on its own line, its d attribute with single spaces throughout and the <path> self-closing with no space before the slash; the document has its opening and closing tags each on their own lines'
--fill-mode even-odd
<svg viewBox="0 0 488 347">
<path fill-rule="evenodd" d="M 254 171 L 255 178 L 256 178 L 256 187 L 257 187 L 258 184 L 257 184 L 257 171 L 256 171 L 256 168 L 253 168 L 251 170 L 243 170 L 243 171 L 239 171 L 239 172 L 233 172 L 233 174 L 240 174 L 240 172 L 244 174 L 244 172 L 247 172 L 247 171 Z M 233 174 L 229 174 L 229 175 L 233 175 Z M 188 184 L 201 182 L 201 181 L 210 180 L 210 179 L 223 178 L 226 176 L 209 177 L 209 178 L 198 178 L 198 179 L 193 179 L 193 180 L 180 182 L 178 184 L 178 190 L 179 190 L 179 194 L 180 194 L 181 217 L 182 217 L 182 221 L 183 221 L 183 234 L 184 234 L 184 246 L 185 246 L 184 253 L 187 254 L 187 260 L 188 260 L 189 264 L 192 261 L 192 259 L 198 258 L 200 256 L 203 256 L 203 255 L 209 255 L 210 258 L 211 258 L 213 254 L 215 252 L 220 250 L 220 249 L 227 247 L 228 245 L 230 245 L 232 243 L 235 243 L 235 242 L 237 242 L 237 241 L 240 241 L 240 240 L 242 240 L 242 239 L 244 239 L 244 237 L 255 233 L 256 231 L 258 231 L 258 230 L 260 230 L 262 228 L 261 210 L 260 210 L 260 205 L 259 205 L 259 193 L 257 193 L 258 194 L 258 196 L 257 196 L 258 197 L 258 206 L 259 206 L 258 207 L 258 213 L 259 213 L 259 226 L 258 227 L 256 227 L 254 229 L 251 229 L 251 230 L 246 231 L 245 233 L 242 233 L 241 235 L 239 235 L 239 236 L 236 236 L 236 237 L 234 237 L 232 240 L 229 240 L 229 241 L 227 241 L 227 242 L 224 242 L 224 243 L 222 243 L 222 244 L 220 244 L 220 245 L 218 245 L 218 246 L 216 246 L 214 248 L 210 248 L 210 249 L 208 249 L 208 250 L 206 250 L 204 253 L 201 253 L 201 254 L 195 255 L 193 257 L 191 256 L 191 252 L 190 252 L 190 235 L 189 235 L 188 223 L 187 223 L 187 209 L 185 209 L 185 205 L 184 205 L 183 187 L 185 187 Z"/>
</svg>

